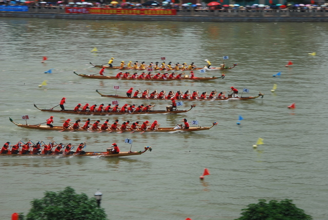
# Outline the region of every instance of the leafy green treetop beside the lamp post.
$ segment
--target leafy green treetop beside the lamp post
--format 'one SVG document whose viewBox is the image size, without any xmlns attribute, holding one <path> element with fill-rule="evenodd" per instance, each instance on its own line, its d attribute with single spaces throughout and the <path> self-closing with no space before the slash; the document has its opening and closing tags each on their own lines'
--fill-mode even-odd
<svg viewBox="0 0 328 220">
<path fill-rule="evenodd" d="M 32 208 L 26 220 L 106 220 L 103 208 L 99 208 L 95 198 L 85 193 L 76 194 L 66 187 L 59 192 L 46 191 L 44 198 L 33 199 Z M 24 216 L 19 216 L 24 219 Z"/>
</svg>

